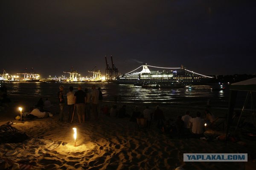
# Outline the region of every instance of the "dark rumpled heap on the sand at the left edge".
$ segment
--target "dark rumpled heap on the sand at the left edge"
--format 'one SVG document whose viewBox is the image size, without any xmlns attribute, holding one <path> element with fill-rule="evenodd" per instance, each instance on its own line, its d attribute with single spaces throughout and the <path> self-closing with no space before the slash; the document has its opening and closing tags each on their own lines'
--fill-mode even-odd
<svg viewBox="0 0 256 170">
<path fill-rule="evenodd" d="M 18 131 L 15 127 L 12 127 L 12 124 L 13 122 L 9 121 L 0 126 L 0 144 L 19 143 L 29 139 L 26 133 Z"/>
</svg>

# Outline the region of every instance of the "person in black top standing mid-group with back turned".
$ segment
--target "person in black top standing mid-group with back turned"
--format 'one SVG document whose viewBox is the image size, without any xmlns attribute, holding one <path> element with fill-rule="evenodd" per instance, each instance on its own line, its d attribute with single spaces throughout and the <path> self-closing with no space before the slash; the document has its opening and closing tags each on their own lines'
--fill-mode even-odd
<svg viewBox="0 0 256 170">
<path fill-rule="evenodd" d="M 82 91 L 81 85 L 78 85 L 78 91 L 74 94 L 74 101 L 76 101 L 76 113 L 78 115 L 79 123 L 81 123 L 81 119 L 84 123 L 86 94 Z"/>
</svg>

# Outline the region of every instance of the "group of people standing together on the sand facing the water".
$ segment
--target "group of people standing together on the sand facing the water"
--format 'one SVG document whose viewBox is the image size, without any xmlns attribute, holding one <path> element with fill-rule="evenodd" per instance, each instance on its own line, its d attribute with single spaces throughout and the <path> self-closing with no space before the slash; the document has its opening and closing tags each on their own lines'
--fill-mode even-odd
<svg viewBox="0 0 256 170">
<path fill-rule="evenodd" d="M 89 120 L 90 110 L 94 119 L 97 121 L 99 119 L 99 108 L 102 103 L 102 92 L 101 88 L 96 89 L 96 86 L 92 86 L 92 93 L 90 94 L 89 90 L 85 88 L 82 90 L 81 85 L 78 85 L 78 91 L 73 92 L 73 86 L 69 87 L 69 92 L 67 93 L 67 106 L 68 106 L 68 122 L 73 122 L 74 112 L 78 115 L 79 123 Z M 64 86 L 61 85 L 58 91 L 58 101 L 60 106 L 59 121 L 64 121 L 64 106 L 66 102 L 64 100 Z"/>
</svg>

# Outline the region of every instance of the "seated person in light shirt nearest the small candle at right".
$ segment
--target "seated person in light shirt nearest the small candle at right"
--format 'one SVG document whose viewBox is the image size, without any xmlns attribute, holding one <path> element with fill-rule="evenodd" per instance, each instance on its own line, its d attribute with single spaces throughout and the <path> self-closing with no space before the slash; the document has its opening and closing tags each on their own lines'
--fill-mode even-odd
<svg viewBox="0 0 256 170">
<path fill-rule="evenodd" d="M 194 134 L 203 134 L 204 133 L 204 119 L 201 119 L 201 113 L 196 113 L 196 118 L 190 120 L 192 125 L 192 133 Z"/>
</svg>

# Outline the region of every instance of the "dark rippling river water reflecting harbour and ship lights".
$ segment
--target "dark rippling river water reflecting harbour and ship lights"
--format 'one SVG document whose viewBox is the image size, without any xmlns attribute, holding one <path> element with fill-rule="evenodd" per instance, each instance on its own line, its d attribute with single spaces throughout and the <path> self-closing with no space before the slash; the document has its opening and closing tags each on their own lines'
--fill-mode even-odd
<svg viewBox="0 0 256 170">
<path fill-rule="evenodd" d="M 69 86 L 74 87 L 77 91 L 77 86 L 81 85 L 82 89 L 91 89 L 93 84 L 96 88 L 102 88 L 104 101 L 113 101 L 114 96 L 121 95 L 124 102 L 143 102 L 143 103 L 206 103 L 207 99 L 211 101 L 221 100 L 228 102 L 228 90 L 211 91 L 210 86 L 197 85 L 193 89 L 185 88 L 157 88 L 147 89 L 141 86 L 134 85 L 117 85 L 114 83 L 41 83 L 41 82 L 12 82 L 1 83 L 6 85 L 9 94 L 28 95 L 38 97 L 56 97 L 59 86 L 64 86 L 64 91 L 68 92 Z"/>
</svg>

